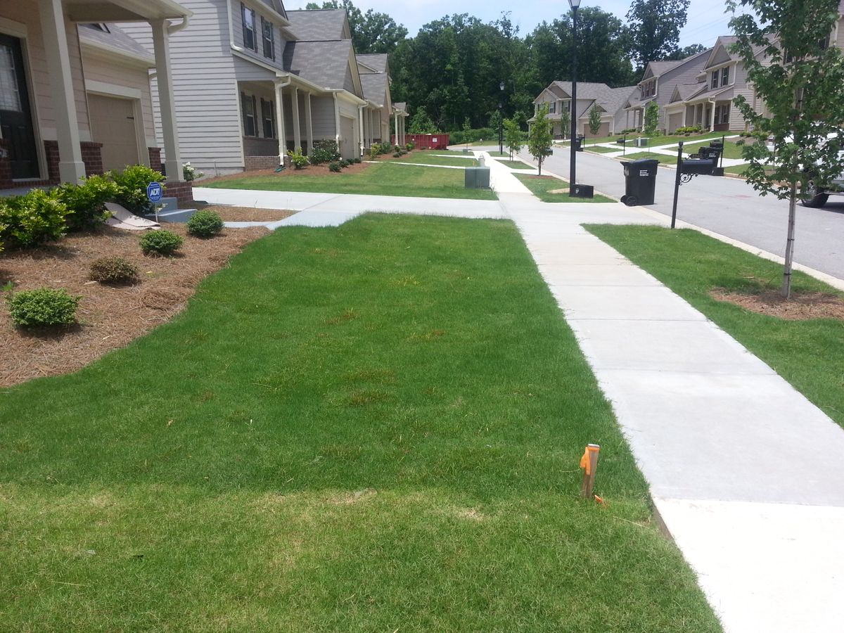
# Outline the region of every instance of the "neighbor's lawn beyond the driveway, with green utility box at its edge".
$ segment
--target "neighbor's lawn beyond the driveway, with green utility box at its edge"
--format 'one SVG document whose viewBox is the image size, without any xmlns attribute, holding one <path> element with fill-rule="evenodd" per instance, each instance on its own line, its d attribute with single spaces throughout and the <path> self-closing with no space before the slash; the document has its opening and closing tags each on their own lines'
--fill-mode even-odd
<svg viewBox="0 0 844 633">
<path fill-rule="evenodd" d="M 426 162 L 436 160 L 430 154 L 412 152 L 404 159 Z M 469 166 L 470 160 L 443 158 Z M 203 183 L 204 184 L 204 183 Z M 282 192 L 364 193 L 376 196 L 453 197 L 497 200 L 489 189 L 466 189 L 462 170 L 446 170 L 422 165 L 396 165 L 385 161 L 356 173 L 311 176 L 307 170 L 287 176 L 244 176 L 209 182 L 205 187 L 221 189 L 262 189 Z"/>
</svg>

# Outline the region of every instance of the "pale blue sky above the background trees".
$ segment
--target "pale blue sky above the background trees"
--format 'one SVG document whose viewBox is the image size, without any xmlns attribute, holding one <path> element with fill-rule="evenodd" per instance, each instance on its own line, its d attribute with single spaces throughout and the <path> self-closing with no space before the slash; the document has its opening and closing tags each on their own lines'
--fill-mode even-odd
<svg viewBox="0 0 844 633">
<path fill-rule="evenodd" d="M 293 8 L 295 3 L 284 3 Z M 305 2 L 301 3 L 304 8 Z M 513 8 L 513 5 L 517 5 Z M 559 18 L 568 10 L 566 0 L 522 0 L 519 3 L 503 2 L 502 0 L 485 0 L 483 3 L 467 2 L 466 0 L 414 0 L 413 2 L 395 2 L 395 0 L 354 0 L 354 6 L 365 11 L 372 8 L 375 11 L 389 14 L 398 23 L 404 24 L 409 35 L 416 35 L 423 24 L 440 19 L 451 14 L 470 14 L 490 22 L 498 19 L 502 11 L 511 11 L 510 19 L 520 27 L 520 35 L 527 35 L 537 24 L 546 20 Z M 582 0 L 581 7 L 599 7 L 604 11 L 625 19 L 630 8 L 630 0 L 601 0 L 590 2 Z M 718 35 L 728 35 L 729 15 L 722 0 L 691 0 L 689 5 L 689 21 L 684 30 L 680 31 L 679 46 L 703 44 L 711 46 Z"/>
</svg>

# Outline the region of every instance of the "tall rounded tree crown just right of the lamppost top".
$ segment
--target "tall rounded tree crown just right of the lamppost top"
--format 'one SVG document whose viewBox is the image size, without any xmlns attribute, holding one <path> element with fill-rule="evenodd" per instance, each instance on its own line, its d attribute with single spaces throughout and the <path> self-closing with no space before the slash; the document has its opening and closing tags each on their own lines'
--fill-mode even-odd
<svg viewBox="0 0 844 633">
<path fill-rule="evenodd" d="M 633 0 L 627 12 L 630 57 L 637 68 L 668 59 L 677 51 L 690 0 Z"/>
</svg>

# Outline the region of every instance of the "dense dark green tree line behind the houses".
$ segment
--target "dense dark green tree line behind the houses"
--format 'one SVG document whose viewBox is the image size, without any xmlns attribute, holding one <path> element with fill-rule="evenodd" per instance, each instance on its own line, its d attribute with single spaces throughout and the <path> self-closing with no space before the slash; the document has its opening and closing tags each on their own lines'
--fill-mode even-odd
<svg viewBox="0 0 844 633">
<path fill-rule="evenodd" d="M 578 81 L 634 85 L 647 62 L 704 50 L 678 46 L 689 2 L 633 0 L 625 21 L 601 8 L 579 9 Z M 571 78 L 571 12 L 524 36 L 506 12 L 489 23 L 469 14 L 446 16 L 408 37 L 389 15 L 361 12 L 351 0 L 306 8 L 345 8 L 355 51 L 390 54 L 392 98 L 407 101 L 413 115 L 408 132 L 460 130 L 467 120 L 468 127 L 497 127 L 499 103 L 505 117 L 523 124 L 542 89 Z"/>
</svg>

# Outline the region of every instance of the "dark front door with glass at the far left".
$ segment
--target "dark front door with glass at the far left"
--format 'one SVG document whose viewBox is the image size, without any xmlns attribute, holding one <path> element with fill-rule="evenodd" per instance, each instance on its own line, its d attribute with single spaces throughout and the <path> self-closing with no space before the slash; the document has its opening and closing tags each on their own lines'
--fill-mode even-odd
<svg viewBox="0 0 844 633">
<path fill-rule="evenodd" d="M 13 178 L 38 177 L 24 55 L 17 37 L 0 34 L 0 134 L 6 139 Z"/>
</svg>

